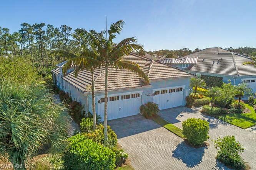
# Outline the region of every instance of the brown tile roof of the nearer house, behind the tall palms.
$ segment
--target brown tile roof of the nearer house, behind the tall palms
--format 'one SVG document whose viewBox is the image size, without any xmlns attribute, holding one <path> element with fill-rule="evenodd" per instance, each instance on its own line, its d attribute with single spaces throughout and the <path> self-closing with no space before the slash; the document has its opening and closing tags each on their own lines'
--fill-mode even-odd
<svg viewBox="0 0 256 170">
<path fill-rule="evenodd" d="M 155 60 L 147 59 L 136 54 L 130 54 L 123 57 L 124 60 L 130 60 L 136 62 L 143 72 L 145 72 L 150 80 L 161 80 L 165 78 L 186 78 L 194 77 L 193 74 L 184 72 L 182 70 L 170 67 L 165 64 L 161 64 Z M 55 69 L 52 70 L 55 72 Z M 101 91 L 105 88 L 105 69 L 95 70 L 95 91 Z M 68 73 L 64 80 L 74 85 L 76 88 L 82 92 L 86 92 L 86 86 L 91 85 L 91 73 L 87 70 L 83 70 L 78 74 L 77 77 L 74 76 L 74 71 Z M 108 69 L 108 89 L 123 89 L 123 88 L 135 88 L 142 87 L 140 77 L 133 74 L 129 70 L 123 69 Z"/>
</svg>

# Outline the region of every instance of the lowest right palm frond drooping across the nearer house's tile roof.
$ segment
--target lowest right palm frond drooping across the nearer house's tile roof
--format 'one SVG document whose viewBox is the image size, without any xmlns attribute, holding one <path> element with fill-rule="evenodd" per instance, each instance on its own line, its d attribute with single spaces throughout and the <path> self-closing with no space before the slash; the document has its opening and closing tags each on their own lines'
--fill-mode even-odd
<svg viewBox="0 0 256 170">
<path fill-rule="evenodd" d="M 115 68 L 130 70 L 131 72 L 143 78 L 147 83 L 149 83 L 148 76 L 140 69 L 140 66 L 135 62 L 128 61 L 128 60 L 120 60 L 115 62 Z"/>
</svg>

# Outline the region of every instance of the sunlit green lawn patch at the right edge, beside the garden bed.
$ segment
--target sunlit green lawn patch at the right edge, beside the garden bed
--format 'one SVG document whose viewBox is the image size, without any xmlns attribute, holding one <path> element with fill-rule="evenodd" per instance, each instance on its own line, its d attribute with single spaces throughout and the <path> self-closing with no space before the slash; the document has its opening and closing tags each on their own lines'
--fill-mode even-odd
<svg viewBox="0 0 256 170">
<path fill-rule="evenodd" d="M 249 113 L 231 113 L 214 117 L 243 129 L 247 129 L 248 127 L 256 125 L 256 113 L 253 107 L 249 106 L 248 104 L 245 104 L 245 107 L 250 110 Z"/>
</svg>

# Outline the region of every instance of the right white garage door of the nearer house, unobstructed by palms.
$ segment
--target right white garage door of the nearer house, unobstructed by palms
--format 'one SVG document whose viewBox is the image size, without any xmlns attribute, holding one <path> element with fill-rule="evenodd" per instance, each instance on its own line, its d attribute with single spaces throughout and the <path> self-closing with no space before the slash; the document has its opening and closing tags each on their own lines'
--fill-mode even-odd
<svg viewBox="0 0 256 170">
<path fill-rule="evenodd" d="M 160 110 L 181 106 L 183 104 L 184 87 L 154 89 L 153 102 L 159 105 Z"/>
</svg>

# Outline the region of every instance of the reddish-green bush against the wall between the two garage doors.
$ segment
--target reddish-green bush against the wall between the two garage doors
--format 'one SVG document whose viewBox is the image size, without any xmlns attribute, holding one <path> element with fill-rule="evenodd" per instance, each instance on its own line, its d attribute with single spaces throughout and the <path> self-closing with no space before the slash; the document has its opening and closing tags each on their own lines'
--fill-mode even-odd
<svg viewBox="0 0 256 170">
<path fill-rule="evenodd" d="M 158 112 L 159 112 L 159 108 L 156 103 L 148 102 L 140 106 L 140 113 L 145 118 L 156 116 Z"/>
</svg>

